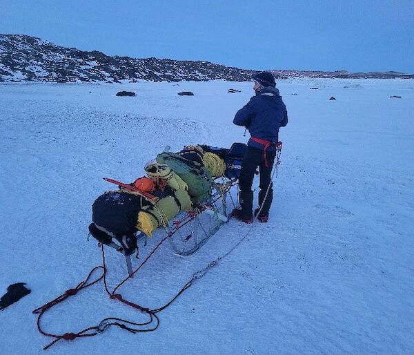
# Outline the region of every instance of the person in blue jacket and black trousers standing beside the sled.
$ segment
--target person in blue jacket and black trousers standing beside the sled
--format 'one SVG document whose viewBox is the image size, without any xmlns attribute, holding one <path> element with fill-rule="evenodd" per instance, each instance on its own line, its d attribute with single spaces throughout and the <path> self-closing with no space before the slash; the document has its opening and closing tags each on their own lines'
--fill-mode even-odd
<svg viewBox="0 0 414 355">
<path fill-rule="evenodd" d="M 279 142 L 279 128 L 288 124 L 288 113 L 276 88 L 275 77 L 271 73 L 262 72 L 255 75 L 253 79 L 255 80 L 253 90 L 256 95 L 246 106 L 237 111 L 233 120 L 234 124 L 245 126 L 250 133 L 239 178 L 239 200 L 242 208 L 233 211 L 235 218 L 246 223 L 253 222 L 252 184 L 257 166 L 260 173 L 260 191 L 259 208 L 255 210 L 255 215 L 260 211 L 257 219 L 260 222 L 268 221 L 273 199 L 270 174 L 276 156 L 275 143 Z M 266 191 L 268 191 L 267 196 Z"/>
</svg>

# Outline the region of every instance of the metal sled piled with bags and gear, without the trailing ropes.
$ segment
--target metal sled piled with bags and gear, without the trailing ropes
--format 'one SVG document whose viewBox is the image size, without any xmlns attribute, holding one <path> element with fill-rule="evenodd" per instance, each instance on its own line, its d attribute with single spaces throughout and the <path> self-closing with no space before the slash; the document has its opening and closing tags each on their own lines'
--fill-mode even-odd
<svg viewBox="0 0 414 355">
<path fill-rule="evenodd" d="M 195 253 L 228 221 L 227 200 L 230 196 L 234 204 L 230 190 L 245 149 L 242 143 L 230 149 L 185 146 L 157 155 L 146 164 L 146 176 L 131 184 L 105 178 L 119 189 L 95 200 L 90 235 L 124 253 L 130 276 L 130 255 L 153 234 L 164 234 L 180 256 Z"/>
</svg>

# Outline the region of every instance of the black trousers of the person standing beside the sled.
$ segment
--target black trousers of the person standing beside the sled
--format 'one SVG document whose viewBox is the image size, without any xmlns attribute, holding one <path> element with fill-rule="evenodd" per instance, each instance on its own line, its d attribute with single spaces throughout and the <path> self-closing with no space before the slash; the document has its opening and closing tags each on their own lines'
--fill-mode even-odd
<svg viewBox="0 0 414 355">
<path fill-rule="evenodd" d="M 259 207 L 262 206 L 262 211 L 260 216 L 268 215 L 270 205 L 273 200 L 273 188 L 270 186 L 266 201 L 264 197 L 268 189 L 269 184 L 271 183 L 271 173 L 273 162 L 275 161 L 276 151 L 266 151 L 266 157 L 268 161 L 268 166 L 264 162 L 264 154 L 262 149 L 248 147 L 246 153 L 243 157 L 242 171 L 239 178 L 239 189 L 240 189 L 240 205 L 242 207 L 242 216 L 244 218 L 252 218 L 253 210 L 253 179 L 255 178 L 255 172 L 257 171 L 257 166 L 259 166 L 259 175 L 260 175 L 260 184 L 259 184 Z"/>
</svg>

